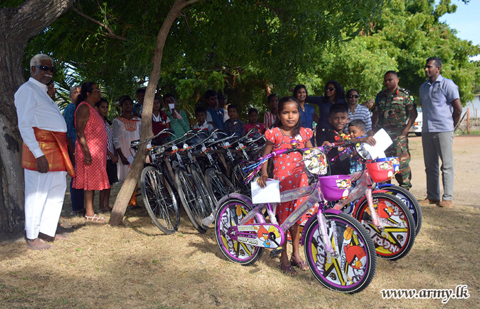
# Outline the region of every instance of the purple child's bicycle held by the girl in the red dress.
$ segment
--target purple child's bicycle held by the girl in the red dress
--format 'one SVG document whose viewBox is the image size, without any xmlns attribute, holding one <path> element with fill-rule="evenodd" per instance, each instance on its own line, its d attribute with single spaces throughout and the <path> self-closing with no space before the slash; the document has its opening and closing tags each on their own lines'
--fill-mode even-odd
<svg viewBox="0 0 480 309">
<path fill-rule="evenodd" d="M 376 271 L 376 254 L 368 231 L 352 216 L 326 209 L 326 201 L 345 198 L 350 176 L 320 176 L 326 172 L 326 157 L 318 148 L 275 150 L 259 159 L 259 165 L 273 156 L 298 151 L 309 172 L 318 181 L 309 187 L 280 193 L 280 201 L 304 198 L 295 211 L 278 225 L 276 204 L 254 206 L 250 197 L 232 193 L 219 201 L 215 216 L 215 238 L 220 250 L 232 262 L 250 265 L 259 260 L 265 248 L 275 258 L 284 248 L 285 231 L 311 207 L 318 207 L 304 227 L 301 244 L 315 278 L 327 288 L 342 293 L 358 293 L 370 284 Z M 269 218 L 269 222 L 265 220 Z"/>
</svg>

